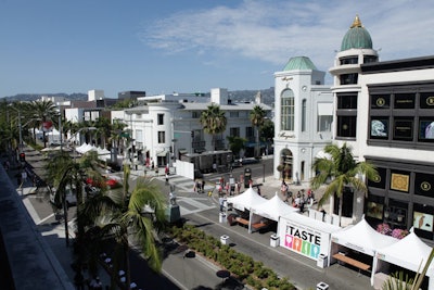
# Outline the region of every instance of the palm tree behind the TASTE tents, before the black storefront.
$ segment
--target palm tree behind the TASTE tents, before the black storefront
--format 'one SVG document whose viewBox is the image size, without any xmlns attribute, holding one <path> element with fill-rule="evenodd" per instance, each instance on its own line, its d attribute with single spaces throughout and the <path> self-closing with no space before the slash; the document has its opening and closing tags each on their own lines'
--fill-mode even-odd
<svg viewBox="0 0 434 290">
<path fill-rule="evenodd" d="M 327 200 L 336 194 L 340 199 L 339 217 L 341 225 L 342 203 L 345 187 L 354 187 L 356 190 L 368 194 L 368 188 L 363 180 L 358 176 L 365 175 L 369 180 L 373 180 L 378 176 L 375 167 L 368 162 L 356 162 L 352 148 L 344 143 L 341 148 L 336 144 L 328 144 L 324 152 L 330 157 L 315 159 L 312 168 L 317 175 L 311 179 L 310 187 L 316 190 L 321 185 L 330 184 L 326 188 L 326 192 L 318 202 L 321 206 Z M 332 206 L 333 209 L 333 206 Z"/>
</svg>

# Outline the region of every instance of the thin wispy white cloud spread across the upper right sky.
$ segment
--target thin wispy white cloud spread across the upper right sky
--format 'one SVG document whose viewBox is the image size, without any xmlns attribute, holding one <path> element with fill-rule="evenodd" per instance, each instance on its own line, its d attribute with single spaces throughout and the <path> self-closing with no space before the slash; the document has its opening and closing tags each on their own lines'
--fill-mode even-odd
<svg viewBox="0 0 434 290">
<path fill-rule="evenodd" d="M 235 8 L 181 11 L 148 25 L 140 38 L 171 54 L 233 53 L 273 65 L 306 55 L 328 70 L 356 14 L 374 49 L 382 48 L 382 60 L 433 53 L 434 35 L 427 30 L 434 26 L 433 10 L 429 1 L 412 0 L 244 1 Z"/>
</svg>

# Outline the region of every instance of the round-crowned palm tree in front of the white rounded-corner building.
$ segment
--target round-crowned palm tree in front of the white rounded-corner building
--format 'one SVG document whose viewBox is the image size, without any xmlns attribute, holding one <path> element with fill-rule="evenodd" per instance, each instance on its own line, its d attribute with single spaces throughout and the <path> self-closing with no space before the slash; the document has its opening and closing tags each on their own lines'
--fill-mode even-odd
<svg viewBox="0 0 434 290">
<path fill-rule="evenodd" d="M 228 124 L 225 112 L 220 110 L 218 104 L 213 103 L 208 105 L 206 111 L 202 112 L 199 122 L 201 122 L 205 133 L 213 135 L 214 150 L 216 150 L 215 137 L 217 134 L 224 133 Z"/>
</svg>

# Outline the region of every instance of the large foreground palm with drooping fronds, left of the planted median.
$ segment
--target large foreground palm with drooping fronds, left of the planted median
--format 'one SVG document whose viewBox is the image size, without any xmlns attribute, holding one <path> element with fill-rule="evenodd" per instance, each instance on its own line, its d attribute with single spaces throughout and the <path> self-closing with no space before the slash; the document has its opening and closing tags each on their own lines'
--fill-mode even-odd
<svg viewBox="0 0 434 290">
<path fill-rule="evenodd" d="M 156 232 L 165 225 L 166 202 L 156 186 L 150 179 L 138 181 L 132 192 L 129 192 L 129 166 L 124 166 L 123 190 L 95 194 L 89 199 L 80 211 L 87 220 L 87 236 L 98 232 L 98 240 L 115 241 L 115 252 L 120 251 L 120 257 L 114 256 L 114 273 L 124 262 L 126 286 L 130 285 L 129 249 L 137 244 L 148 260 L 151 268 L 161 270 L 162 256 L 155 243 Z M 145 211 L 148 209 L 148 211 Z M 94 237 L 94 236 L 93 236 Z"/>
</svg>

